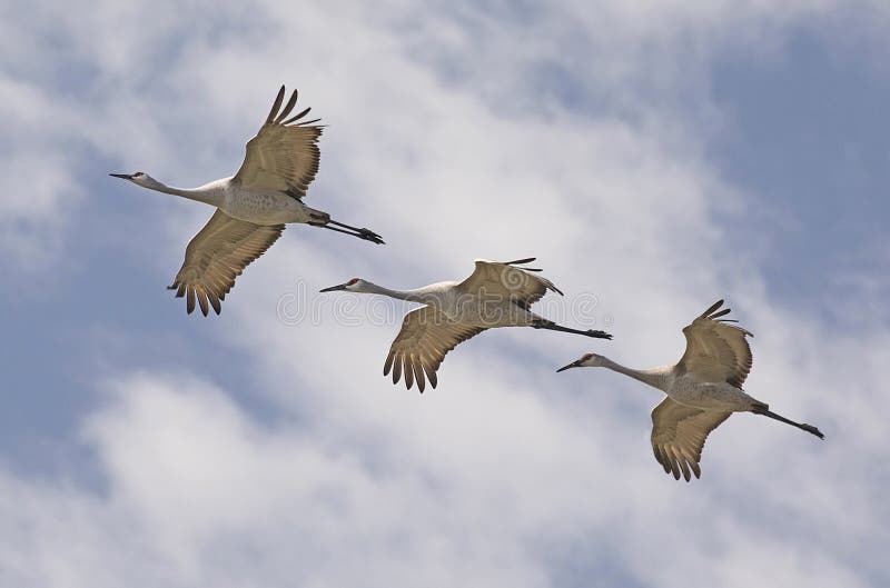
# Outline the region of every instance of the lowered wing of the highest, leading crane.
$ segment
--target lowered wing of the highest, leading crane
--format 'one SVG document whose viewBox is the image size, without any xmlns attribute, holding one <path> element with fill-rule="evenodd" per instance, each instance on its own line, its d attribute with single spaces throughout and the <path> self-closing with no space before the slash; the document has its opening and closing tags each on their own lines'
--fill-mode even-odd
<svg viewBox="0 0 890 588">
<path fill-rule="evenodd" d="M 186 310 L 195 310 L 195 301 L 206 317 L 209 307 L 219 315 L 220 302 L 251 261 L 271 247 L 284 225 L 254 225 L 229 217 L 217 209 L 186 248 L 186 260 L 168 288 L 176 297 L 186 296 Z M 208 305 L 209 303 L 209 305 Z"/>
</svg>

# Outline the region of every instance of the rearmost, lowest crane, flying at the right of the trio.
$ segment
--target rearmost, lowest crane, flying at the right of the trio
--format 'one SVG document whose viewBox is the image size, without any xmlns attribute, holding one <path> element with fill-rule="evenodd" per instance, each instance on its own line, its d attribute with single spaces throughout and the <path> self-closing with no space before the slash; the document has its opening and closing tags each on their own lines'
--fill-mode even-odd
<svg viewBox="0 0 890 588">
<path fill-rule="evenodd" d="M 683 329 L 686 351 L 674 366 L 637 370 L 603 356 L 586 353 L 556 370 L 609 368 L 666 393 L 668 398 L 652 410 L 652 450 L 664 471 L 673 474 L 678 480 L 681 471 L 686 481 L 690 470 L 696 478 L 701 477 L 699 462 L 704 439 L 733 412 L 763 415 L 824 439 L 812 425 L 771 412 L 769 405 L 742 391 L 752 365 L 745 337 L 753 335 L 726 325 L 735 321 L 720 318 L 730 312 L 729 308 L 718 311 L 722 306 L 723 300 L 718 300 Z"/>
</svg>

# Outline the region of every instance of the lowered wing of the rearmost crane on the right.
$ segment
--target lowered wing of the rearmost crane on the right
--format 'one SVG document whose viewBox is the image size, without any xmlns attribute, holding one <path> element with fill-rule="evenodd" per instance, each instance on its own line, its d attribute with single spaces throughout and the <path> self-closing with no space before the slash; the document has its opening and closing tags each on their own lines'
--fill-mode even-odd
<svg viewBox="0 0 890 588">
<path fill-rule="evenodd" d="M 696 478 L 702 470 L 702 447 L 708 433 L 730 418 L 732 412 L 702 410 L 675 402 L 670 397 L 652 410 L 652 450 L 664 471 L 675 479 L 689 481 L 690 470 Z"/>
</svg>

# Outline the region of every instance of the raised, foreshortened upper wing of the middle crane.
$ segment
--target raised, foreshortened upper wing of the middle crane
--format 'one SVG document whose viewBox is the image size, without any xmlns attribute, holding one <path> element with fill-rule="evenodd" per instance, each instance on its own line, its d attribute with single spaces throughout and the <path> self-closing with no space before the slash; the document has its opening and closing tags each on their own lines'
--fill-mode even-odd
<svg viewBox="0 0 890 588">
<path fill-rule="evenodd" d="M 540 269 L 517 267 L 534 260 L 533 257 L 516 261 L 476 259 L 476 269 L 457 288 L 466 293 L 510 298 L 526 310 L 541 300 L 547 290 L 562 296 L 563 292 L 552 281 L 531 273 Z"/>
</svg>

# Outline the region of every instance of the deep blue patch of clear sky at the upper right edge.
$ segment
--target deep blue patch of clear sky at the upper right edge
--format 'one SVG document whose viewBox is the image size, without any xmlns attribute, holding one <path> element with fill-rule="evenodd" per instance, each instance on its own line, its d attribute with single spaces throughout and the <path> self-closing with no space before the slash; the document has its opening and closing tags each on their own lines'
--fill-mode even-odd
<svg viewBox="0 0 890 588">
<path fill-rule="evenodd" d="M 890 80 L 872 50 L 803 29 L 779 62 L 735 56 L 715 67 L 714 97 L 733 130 L 714 142 L 714 161 L 779 217 L 759 222 L 770 250 L 784 252 L 763 266 L 779 295 L 842 296 L 832 277 L 869 271 L 887 242 L 890 137 L 880 116 Z"/>
</svg>

